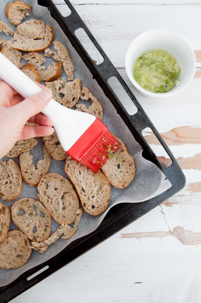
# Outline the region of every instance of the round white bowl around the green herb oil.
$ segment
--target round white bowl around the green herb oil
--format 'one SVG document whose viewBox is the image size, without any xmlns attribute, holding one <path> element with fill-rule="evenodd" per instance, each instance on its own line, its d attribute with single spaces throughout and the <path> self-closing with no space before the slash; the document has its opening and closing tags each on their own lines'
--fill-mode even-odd
<svg viewBox="0 0 201 303">
<path fill-rule="evenodd" d="M 178 84 L 166 93 L 153 93 L 142 88 L 133 77 L 133 65 L 136 59 L 149 50 L 160 49 L 172 55 L 180 65 L 181 75 Z M 196 58 L 189 44 L 178 34 L 167 29 L 151 29 L 137 36 L 130 44 L 125 58 L 128 78 L 142 95 L 149 98 L 163 98 L 181 92 L 193 79 Z"/>
</svg>

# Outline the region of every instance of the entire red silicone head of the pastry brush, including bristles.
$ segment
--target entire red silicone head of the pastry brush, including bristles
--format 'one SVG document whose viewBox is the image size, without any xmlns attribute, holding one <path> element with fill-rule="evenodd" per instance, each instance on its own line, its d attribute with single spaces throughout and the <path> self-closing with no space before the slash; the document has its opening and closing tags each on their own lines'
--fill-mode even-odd
<svg viewBox="0 0 201 303">
<path fill-rule="evenodd" d="M 120 147 L 121 144 L 107 126 L 96 119 L 67 153 L 97 173 Z"/>
</svg>

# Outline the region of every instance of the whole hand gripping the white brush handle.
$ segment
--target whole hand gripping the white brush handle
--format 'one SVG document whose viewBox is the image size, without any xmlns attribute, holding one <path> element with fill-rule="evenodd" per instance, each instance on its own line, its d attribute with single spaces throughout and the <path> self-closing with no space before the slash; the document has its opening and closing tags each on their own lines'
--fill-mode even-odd
<svg viewBox="0 0 201 303">
<path fill-rule="evenodd" d="M 41 92 L 24 99 L 0 79 L 0 158 L 19 140 L 48 136 L 54 132 L 51 119 L 41 113 L 52 93 L 43 85 L 39 86 Z M 26 122 L 39 125 L 25 126 Z"/>
</svg>

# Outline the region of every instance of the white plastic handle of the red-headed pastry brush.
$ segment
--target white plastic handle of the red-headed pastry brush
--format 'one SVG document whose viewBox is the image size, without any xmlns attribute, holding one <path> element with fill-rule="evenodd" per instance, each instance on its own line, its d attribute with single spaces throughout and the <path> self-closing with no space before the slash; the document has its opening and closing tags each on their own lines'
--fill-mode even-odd
<svg viewBox="0 0 201 303">
<path fill-rule="evenodd" d="M 25 98 L 41 91 L 41 88 L 19 68 L 0 53 L 0 78 Z M 65 151 L 81 137 L 96 117 L 66 108 L 54 99 L 42 110 L 54 123 L 59 141 Z"/>
</svg>

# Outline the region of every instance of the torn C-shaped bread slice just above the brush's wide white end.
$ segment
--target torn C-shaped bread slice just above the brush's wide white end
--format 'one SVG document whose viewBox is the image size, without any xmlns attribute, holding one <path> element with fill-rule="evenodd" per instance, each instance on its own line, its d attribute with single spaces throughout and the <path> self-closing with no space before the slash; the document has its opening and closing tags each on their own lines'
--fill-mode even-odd
<svg viewBox="0 0 201 303">
<path fill-rule="evenodd" d="M 91 101 L 92 104 L 87 107 L 85 104 L 76 104 L 77 110 L 80 112 L 85 112 L 91 115 L 94 115 L 99 120 L 103 118 L 103 108 L 101 103 L 98 101 L 96 97 L 92 94 L 90 89 L 86 86 L 82 88 L 80 98 L 84 101 Z"/>
</svg>

